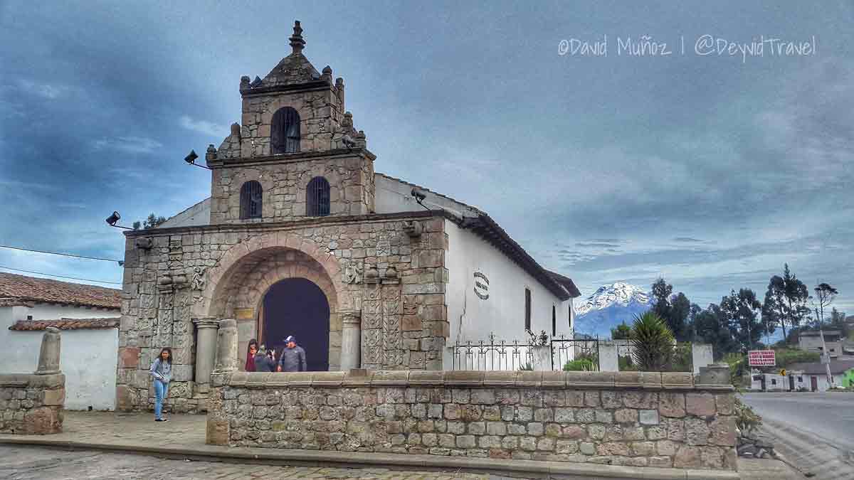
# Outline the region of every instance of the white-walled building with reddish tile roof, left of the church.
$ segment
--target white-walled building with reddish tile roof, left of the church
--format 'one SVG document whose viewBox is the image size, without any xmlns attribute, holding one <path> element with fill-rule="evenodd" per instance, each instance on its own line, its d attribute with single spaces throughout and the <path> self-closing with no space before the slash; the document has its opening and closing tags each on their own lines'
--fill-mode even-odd
<svg viewBox="0 0 854 480">
<path fill-rule="evenodd" d="M 62 331 L 65 407 L 113 410 L 121 290 L 0 272 L 0 372 L 32 373 L 44 329 Z"/>
</svg>

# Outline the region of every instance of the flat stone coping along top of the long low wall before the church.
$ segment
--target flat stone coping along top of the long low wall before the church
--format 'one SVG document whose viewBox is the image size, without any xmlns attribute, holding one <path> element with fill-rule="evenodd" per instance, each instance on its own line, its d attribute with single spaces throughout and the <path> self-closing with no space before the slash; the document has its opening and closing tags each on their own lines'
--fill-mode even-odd
<svg viewBox="0 0 854 480">
<path fill-rule="evenodd" d="M 690 372 L 480 372 L 366 371 L 231 372 L 215 383 L 248 389 L 287 387 L 456 387 L 531 389 L 712 390 L 732 392 L 729 384 L 695 383 Z"/>
</svg>

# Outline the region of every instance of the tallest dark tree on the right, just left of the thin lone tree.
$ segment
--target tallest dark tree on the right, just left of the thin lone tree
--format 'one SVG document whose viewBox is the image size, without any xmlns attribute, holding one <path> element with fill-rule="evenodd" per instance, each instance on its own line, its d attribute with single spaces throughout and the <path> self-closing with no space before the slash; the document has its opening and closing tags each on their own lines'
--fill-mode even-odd
<svg viewBox="0 0 854 480">
<path fill-rule="evenodd" d="M 787 338 L 787 325 L 797 328 L 810 314 L 806 301 L 810 293 L 804 282 L 789 271 L 789 264 L 783 266 L 783 276 L 775 275 L 768 283 L 765 301 L 762 306 L 762 320 L 766 325 L 780 325 L 783 338 Z"/>
</svg>

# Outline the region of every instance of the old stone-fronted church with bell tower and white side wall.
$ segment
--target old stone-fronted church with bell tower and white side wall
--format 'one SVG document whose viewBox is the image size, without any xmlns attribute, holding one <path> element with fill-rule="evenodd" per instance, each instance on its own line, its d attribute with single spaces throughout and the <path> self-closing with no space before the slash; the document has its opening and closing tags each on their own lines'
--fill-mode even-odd
<svg viewBox="0 0 854 480">
<path fill-rule="evenodd" d="M 488 214 L 376 173 L 344 80 L 292 49 L 240 80 L 241 123 L 205 161 L 211 196 L 126 232 L 117 408 L 149 408 L 150 362 L 173 348 L 173 410 L 202 411 L 220 319 L 250 338 L 293 335 L 308 370 L 453 368 L 490 333 L 572 334 L 570 278 L 548 272 Z"/>
</svg>

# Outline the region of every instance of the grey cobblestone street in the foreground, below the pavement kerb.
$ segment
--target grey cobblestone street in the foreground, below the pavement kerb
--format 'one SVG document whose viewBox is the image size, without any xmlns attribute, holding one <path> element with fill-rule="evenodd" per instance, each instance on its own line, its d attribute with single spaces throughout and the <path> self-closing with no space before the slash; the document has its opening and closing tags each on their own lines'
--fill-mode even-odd
<svg viewBox="0 0 854 480">
<path fill-rule="evenodd" d="M 208 461 L 163 460 L 133 454 L 64 451 L 54 448 L 0 445 L 0 478 L 9 480 L 230 480 L 246 478 L 336 478 L 364 480 L 486 480 L 488 475 L 439 471 L 394 471 L 383 468 L 324 468 L 290 465 L 237 465 Z"/>
</svg>

